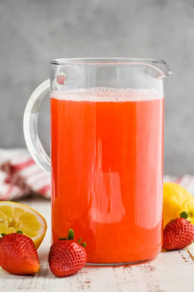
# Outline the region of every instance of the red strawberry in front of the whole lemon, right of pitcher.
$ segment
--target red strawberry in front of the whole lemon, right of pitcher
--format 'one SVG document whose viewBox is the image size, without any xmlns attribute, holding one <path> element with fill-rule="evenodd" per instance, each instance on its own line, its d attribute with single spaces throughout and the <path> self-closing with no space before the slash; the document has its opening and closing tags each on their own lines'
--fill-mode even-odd
<svg viewBox="0 0 194 292">
<path fill-rule="evenodd" d="M 180 218 L 171 220 L 163 231 L 163 248 L 168 250 L 182 249 L 194 240 L 194 225 L 186 220 L 188 214 L 182 212 Z"/>
</svg>

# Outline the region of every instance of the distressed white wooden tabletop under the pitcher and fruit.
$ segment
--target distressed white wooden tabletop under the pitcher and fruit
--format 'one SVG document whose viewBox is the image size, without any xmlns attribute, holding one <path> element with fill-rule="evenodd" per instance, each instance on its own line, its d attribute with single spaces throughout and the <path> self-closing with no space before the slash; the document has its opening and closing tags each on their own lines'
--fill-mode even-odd
<svg viewBox="0 0 194 292">
<path fill-rule="evenodd" d="M 161 252 L 151 263 L 125 267 L 84 267 L 78 274 L 56 278 L 49 269 L 50 203 L 21 201 L 40 212 L 48 230 L 38 249 L 41 270 L 35 276 L 14 276 L 0 269 L 0 291 L 31 292 L 191 292 L 194 291 L 194 244 L 188 249 Z"/>
</svg>

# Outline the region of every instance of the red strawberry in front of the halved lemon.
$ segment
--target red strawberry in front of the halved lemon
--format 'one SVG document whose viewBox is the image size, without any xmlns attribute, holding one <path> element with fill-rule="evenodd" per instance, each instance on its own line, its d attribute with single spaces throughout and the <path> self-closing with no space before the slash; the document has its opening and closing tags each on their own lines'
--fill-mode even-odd
<svg viewBox="0 0 194 292">
<path fill-rule="evenodd" d="M 23 235 L 22 231 L 1 236 L 0 266 L 3 270 L 15 275 L 39 272 L 38 254 L 30 237 Z"/>
</svg>

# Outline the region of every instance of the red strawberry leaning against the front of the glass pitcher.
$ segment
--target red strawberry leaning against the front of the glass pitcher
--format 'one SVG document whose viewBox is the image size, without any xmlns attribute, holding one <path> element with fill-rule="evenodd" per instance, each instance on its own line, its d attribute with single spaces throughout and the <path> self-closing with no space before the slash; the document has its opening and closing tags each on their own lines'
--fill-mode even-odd
<svg viewBox="0 0 194 292">
<path fill-rule="evenodd" d="M 75 274 L 86 264 L 86 243 L 74 241 L 74 231 L 69 229 L 67 238 L 59 238 L 51 245 L 49 251 L 49 266 L 57 277 Z"/>
</svg>

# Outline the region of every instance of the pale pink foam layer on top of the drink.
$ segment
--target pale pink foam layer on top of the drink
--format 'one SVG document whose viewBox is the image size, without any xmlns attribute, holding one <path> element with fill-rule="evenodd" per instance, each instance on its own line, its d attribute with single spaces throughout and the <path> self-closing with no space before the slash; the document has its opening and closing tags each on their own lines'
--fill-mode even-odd
<svg viewBox="0 0 194 292">
<path fill-rule="evenodd" d="M 163 98 L 163 94 L 156 89 L 116 89 L 116 88 L 90 88 L 69 91 L 54 91 L 51 98 L 69 101 L 88 102 L 130 102 L 143 100 L 156 100 Z"/>
</svg>

